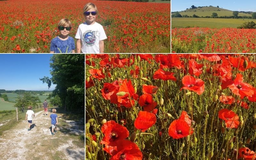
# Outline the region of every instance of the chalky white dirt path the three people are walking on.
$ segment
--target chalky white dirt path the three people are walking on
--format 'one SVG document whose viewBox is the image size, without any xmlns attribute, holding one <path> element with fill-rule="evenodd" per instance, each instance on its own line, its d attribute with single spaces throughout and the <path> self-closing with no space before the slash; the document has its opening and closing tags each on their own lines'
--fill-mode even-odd
<svg viewBox="0 0 256 160">
<path fill-rule="evenodd" d="M 51 111 L 50 111 L 51 112 Z M 0 137 L 0 158 L 2 159 L 84 159 L 84 144 L 78 136 L 84 133 L 83 123 L 66 120 L 65 114 L 58 114 L 59 132 L 52 136 L 51 113 L 37 112 L 32 120 L 31 131 L 28 121 L 22 120 L 16 127 L 5 131 Z"/>
</svg>

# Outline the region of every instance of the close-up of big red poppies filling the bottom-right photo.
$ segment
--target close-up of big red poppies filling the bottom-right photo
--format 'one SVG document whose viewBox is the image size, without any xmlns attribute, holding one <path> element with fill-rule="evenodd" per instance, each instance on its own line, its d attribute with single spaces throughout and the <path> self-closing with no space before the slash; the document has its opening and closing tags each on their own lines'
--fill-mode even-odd
<svg viewBox="0 0 256 160">
<path fill-rule="evenodd" d="M 256 159 L 254 54 L 86 54 L 87 159 Z"/>
</svg>

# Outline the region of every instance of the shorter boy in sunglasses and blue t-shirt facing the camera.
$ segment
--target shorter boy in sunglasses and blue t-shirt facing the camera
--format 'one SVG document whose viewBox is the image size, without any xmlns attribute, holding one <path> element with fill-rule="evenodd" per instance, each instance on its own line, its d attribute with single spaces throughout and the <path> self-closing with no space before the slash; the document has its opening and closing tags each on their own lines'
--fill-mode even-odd
<svg viewBox="0 0 256 160">
<path fill-rule="evenodd" d="M 75 53 L 75 40 L 68 36 L 72 24 L 68 19 L 61 19 L 58 23 L 60 35 L 51 41 L 50 53 Z"/>
</svg>

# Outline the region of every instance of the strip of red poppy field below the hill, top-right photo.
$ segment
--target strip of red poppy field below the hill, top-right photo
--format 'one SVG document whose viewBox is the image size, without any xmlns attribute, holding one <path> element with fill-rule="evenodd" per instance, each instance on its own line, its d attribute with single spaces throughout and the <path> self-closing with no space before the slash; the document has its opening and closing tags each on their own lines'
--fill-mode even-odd
<svg viewBox="0 0 256 160">
<path fill-rule="evenodd" d="M 173 28 L 173 53 L 255 53 L 256 30 Z"/>
</svg>

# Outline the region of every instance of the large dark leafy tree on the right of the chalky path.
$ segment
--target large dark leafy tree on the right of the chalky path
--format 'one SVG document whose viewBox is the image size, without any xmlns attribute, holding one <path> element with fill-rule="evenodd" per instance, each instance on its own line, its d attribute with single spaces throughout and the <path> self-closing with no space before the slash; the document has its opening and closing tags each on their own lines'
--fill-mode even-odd
<svg viewBox="0 0 256 160">
<path fill-rule="evenodd" d="M 56 84 L 52 97 L 58 95 L 65 110 L 84 112 L 84 54 L 54 54 L 52 78 L 39 78 L 43 83 Z"/>
</svg>

